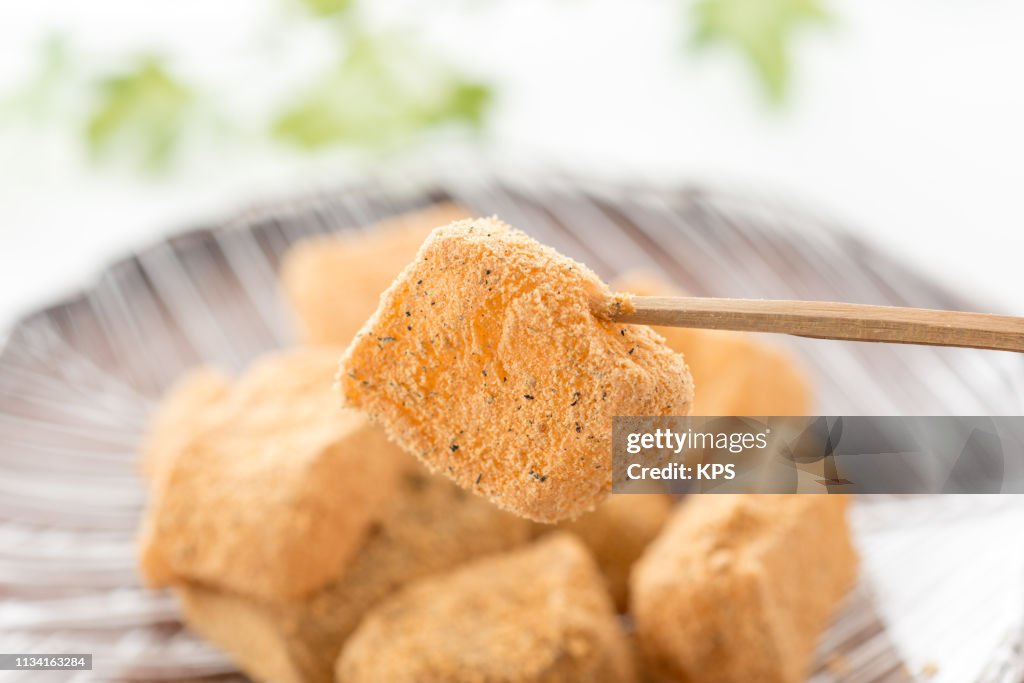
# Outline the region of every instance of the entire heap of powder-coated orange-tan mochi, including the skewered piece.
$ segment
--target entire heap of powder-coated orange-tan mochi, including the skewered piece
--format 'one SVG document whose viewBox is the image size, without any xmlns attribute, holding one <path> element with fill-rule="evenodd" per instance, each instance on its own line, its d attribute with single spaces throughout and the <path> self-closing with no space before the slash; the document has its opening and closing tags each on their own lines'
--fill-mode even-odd
<svg viewBox="0 0 1024 683">
<path fill-rule="evenodd" d="M 249 676 L 805 680 L 846 497 L 609 495 L 615 415 L 807 414 L 785 352 L 600 317 L 586 266 L 452 205 L 300 242 L 281 282 L 301 345 L 194 370 L 142 449 L 141 573 Z"/>
</svg>

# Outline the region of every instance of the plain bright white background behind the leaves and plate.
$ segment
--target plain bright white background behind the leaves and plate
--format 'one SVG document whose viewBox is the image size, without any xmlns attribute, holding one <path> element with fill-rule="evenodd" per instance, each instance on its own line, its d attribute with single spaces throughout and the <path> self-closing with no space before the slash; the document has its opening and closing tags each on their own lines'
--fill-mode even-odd
<svg viewBox="0 0 1024 683">
<path fill-rule="evenodd" d="M 833 2 L 834 24 L 799 41 L 793 96 L 780 110 L 765 105 L 732 54 L 687 49 L 679 2 L 367 4 L 382 25 L 415 26 L 497 81 L 489 146 L 590 173 L 777 193 L 845 221 L 985 307 L 1024 313 L 1020 2 Z M 0 87 L 24 76 L 54 29 L 111 60 L 158 46 L 175 68 L 210 83 L 251 74 L 254 42 L 275 40 L 276 7 L 5 3 Z M 234 81 L 243 115 L 264 82 L 301 82 L 316 61 L 317 36 L 280 33 L 291 43 L 276 45 L 283 56 L 262 66 L 259 82 Z M 139 179 L 90 164 L 75 136 L 23 128 L 0 130 L 0 329 L 158 234 L 329 183 L 346 167 L 337 155 L 309 160 L 243 141 L 200 150 L 169 177 Z"/>
</svg>

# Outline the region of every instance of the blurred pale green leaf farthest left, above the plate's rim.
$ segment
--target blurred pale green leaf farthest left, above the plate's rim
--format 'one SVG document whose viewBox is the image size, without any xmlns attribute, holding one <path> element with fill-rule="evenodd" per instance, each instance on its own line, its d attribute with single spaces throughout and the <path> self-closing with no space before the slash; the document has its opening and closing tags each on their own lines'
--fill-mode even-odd
<svg viewBox="0 0 1024 683">
<path fill-rule="evenodd" d="M 193 92 L 160 59 L 141 57 L 125 73 L 103 79 L 86 124 L 95 157 L 122 152 L 148 170 L 167 166 L 185 124 Z"/>
</svg>

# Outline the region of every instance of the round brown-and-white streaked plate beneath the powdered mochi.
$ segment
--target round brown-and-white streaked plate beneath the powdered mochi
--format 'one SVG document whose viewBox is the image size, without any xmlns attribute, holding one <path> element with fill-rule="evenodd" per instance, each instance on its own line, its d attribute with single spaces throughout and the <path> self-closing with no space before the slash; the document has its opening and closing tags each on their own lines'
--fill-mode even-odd
<svg viewBox="0 0 1024 683">
<path fill-rule="evenodd" d="M 183 232 L 27 316 L 0 352 L 0 651 L 92 652 L 93 674 L 102 678 L 237 676 L 224 656 L 181 628 L 173 599 L 143 590 L 135 574 L 133 539 L 145 498 L 135 449 L 146 416 L 186 368 L 206 361 L 237 371 L 290 342 L 275 272 L 291 243 L 443 200 L 498 214 L 604 278 L 642 268 L 700 295 L 984 308 L 775 201 L 550 171 L 449 167 L 382 175 Z M 1014 354 L 777 341 L 810 369 L 821 414 L 1024 410 L 1024 364 Z M 1016 497 L 859 499 L 854 527 L 864 577 L 822 639 L 813 680 L 905 681 L 921 674 L 1019 681 L 1024 610 L 1008 600 L 1002 584 L 985 580 L 1018 561 L 1011 554 L 1019 537 L 1017 544 L 989 543 L 980 555 L 958 552 L 951 527 L 936 520 L 973 520 L 977 528 L 962 530 L 977 538 L 986 520 L 1020 511 Z M 929 558 L 942 571 L 928 574 L 920 599 L 900 602 L 898 613 L 880 608 L 882 597 L 899 602 L 890 598 L 903 584 L 891 580 Z M 900 580 L 921 585 L 920 567 L 914 571 Z M 948 579 L 975 574 L 979 590 L 966 596 Z M 967 616 L 953 608 L 956 600 Z M 973 631 L 987 625 L 996 633 L 979 640 L 955 632 L 975 622 L 982 626 Z M 907 624 L 920 626 L 903 633 Z M 941 643 L 940 654 L 963 669 L 922 664 L 930 642 Z M 70 676 L 32 674 L 41 678 Z"/>
</svg>

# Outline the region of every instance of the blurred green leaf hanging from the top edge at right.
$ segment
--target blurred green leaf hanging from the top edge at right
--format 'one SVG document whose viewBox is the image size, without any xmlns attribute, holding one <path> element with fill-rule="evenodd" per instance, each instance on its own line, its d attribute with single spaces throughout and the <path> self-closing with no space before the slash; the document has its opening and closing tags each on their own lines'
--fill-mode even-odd
<svg viewBox="0 0 1024 683">
<path fill-rule="evenodd" d="M 694 12 L 695 43 L 719 42 L 738 49 L 776 102 L 785 96 L 790 82 L 794 31 L 828 18 L 818 0 L 699 0 Z"/>
</svg>

